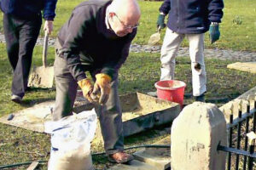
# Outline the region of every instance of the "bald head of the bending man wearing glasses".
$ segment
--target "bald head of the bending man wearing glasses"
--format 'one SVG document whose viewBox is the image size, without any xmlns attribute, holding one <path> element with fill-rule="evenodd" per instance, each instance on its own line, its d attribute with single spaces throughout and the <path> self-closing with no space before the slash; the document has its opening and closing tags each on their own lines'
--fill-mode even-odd
<svg viewBox="0 0 256 170">
<path fill-rule="evenodd" d="M 123 37 L 137 26 L 141 11 L 137 0 L 113 0 L 108 6 L 108 16 L 113 31 Z"/>
</svg>

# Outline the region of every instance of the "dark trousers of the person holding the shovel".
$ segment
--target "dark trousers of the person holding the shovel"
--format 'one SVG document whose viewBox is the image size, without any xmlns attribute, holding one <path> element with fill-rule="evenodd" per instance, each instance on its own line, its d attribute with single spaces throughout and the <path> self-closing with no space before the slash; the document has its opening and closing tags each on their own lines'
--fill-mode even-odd
<svg viewBox="0 0 256 170">
<path fill-rule="evenodd" d="M 3 31 L 6 40 L 9 62 L 14 71 L 12 94 L 24 96 L 29 71 L 32 64 L 32 52 L 42 25 L 42 16 L 32 19 L 20 19 L 11 14 L 3 14 Z"/>
</svg>

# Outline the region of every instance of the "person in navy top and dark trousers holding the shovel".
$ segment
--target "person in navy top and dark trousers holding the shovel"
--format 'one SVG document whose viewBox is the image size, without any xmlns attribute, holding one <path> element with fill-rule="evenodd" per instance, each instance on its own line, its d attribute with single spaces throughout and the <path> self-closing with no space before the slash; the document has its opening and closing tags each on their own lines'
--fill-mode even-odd
<svg viewBox="0 0 256 170">
<path fill-rule="evenodd" d="M 3 31 L 14 76 L 11 99 L 20 103 L 25 95 L 32 52 L 38 39 L 44 11 L 44 31 L 51 33 L 57 0 L 1 0 Z"/>
</svg>

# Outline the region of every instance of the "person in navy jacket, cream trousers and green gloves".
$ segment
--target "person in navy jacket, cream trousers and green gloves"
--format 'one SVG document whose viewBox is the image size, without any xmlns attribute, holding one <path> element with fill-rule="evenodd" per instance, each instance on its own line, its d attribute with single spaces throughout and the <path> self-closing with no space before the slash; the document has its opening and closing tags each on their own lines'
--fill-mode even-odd
<svg viewBox="0 0 256 170">
<path fill-rule="evenodd" d="M 204 33 L 210 27 L 210 40 L 220 36 L 218 24 L 223 17 L 223 0 L 165 0 L 160 6 L 157 27 L 164 28 L 168 14 L 166 36 L 161 48 L 160 80 L 174 79 L 175 57 L 184 37 L 189 40 L 192 88 L 196 101 L 205 101 L 207 74 L 204 63 Z"/>
</svg>

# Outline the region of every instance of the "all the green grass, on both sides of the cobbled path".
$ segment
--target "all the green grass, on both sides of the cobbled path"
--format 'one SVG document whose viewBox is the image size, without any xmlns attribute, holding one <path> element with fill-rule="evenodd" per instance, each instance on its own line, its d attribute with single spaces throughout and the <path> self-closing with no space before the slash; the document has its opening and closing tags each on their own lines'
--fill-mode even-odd
<svg viewBox="0 0 256 170">
<path fill-rule="evenodd" d="M 71 10 L 81 0 L 60 0 L 56 9 L 55 31 L 56 36 L 61 25 L 68 19 Z M 142 19 L 134 42 L 145 44 L 148 37 L 155 31 L 155 22 L 158 15 L 159 2 L 140 1 L 142 8 Z M 206 36 L 206 46 L 210 48 L 232 48 L 236 50 L 256 51 L 256 10 L 253 0 L 225 0 L 224 20 L 221 24 L 221 39 L 214 45 L 209 45 Z M 235 17 L 239 16 L 241 25 L 233 23 Z M 2 16 L 0 17 L 2 20 Z M 3 31 L 2 21 L 0 31 Z M 41 32 L 41 35 L 42 32 Z M 162 37 L 164 31 L 162 31 Z M 184 42 L 183 45 L 187 45 Z M 42 47 L 36 47 L 33 54 L 33 65 L 41 65 Z M 153 91 L 154 82 L 160 77 L 160 54 L 131 53 L 125 65 L 119 72 L 119 93 Z M 49 48 L 49 63 L 54 61 L 54 48 Z M 208 101 L 223 105 L 230 99 L 236 98 L 256 84 L 255 75 L 242 71 L 228 70 L 226 65 L 234 61 L 206 59 L 207 66 L 207 94 Z M 185 92 L 191 93 L 191 71 L 188 56 L 177 58 L 176 78 L 186 82 Z M 24 98 L 23 105 L 10 102 L 10 86 L 12 70 L 6 56 L 4 44 L 0 43 L 0 116 L 20 111 L 47 99 L 55 99 L 55 89 L 33 89 Z M 191 97 L 184 100 L 185 104 L 193 101 Z M 141 133 L 125 139 L 125 145 L 151 144 L 165 137 L 154 130 Z M 12 164 L 22 161 L 48 160 L 49 159 L 49 135 L 44 133 L 33 133 L 18 127 L 10 127 L 0 123 L 0 165 Z M 92 146 L 92 150 L 102 151 L 101 147 Z M 94 164 L 97 169 L 102 169 L 107 163 L 104 156 L 94 156 Z M 25 169 L 18 167 L 15 169 Z M 47 169 L 41 166 L 39 169 Z"/>
</svg>

